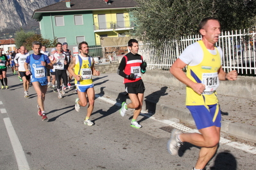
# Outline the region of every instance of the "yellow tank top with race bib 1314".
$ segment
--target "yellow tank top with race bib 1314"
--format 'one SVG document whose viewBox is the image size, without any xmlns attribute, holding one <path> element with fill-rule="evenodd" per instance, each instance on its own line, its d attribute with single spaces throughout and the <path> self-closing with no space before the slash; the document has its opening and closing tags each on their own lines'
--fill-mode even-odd
<svg viewBox="0 0 256 170">
<path fill-rule="evenodd" d="M 203 50 L 203 60 L 196 66 L 187 66 L 187 77 L 193 82 L 205 84 L 205 91 L 198 95 L 187 86 L 186 105 L 212 105 L 218 103 L 216 89 L 219 86 L 218 70 L 221 67 L 221 57 L 218 49 L 216 55 L 211 54 L 203 41 L 198 41 Z"/>
</svg>

